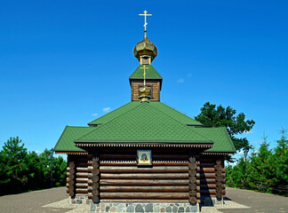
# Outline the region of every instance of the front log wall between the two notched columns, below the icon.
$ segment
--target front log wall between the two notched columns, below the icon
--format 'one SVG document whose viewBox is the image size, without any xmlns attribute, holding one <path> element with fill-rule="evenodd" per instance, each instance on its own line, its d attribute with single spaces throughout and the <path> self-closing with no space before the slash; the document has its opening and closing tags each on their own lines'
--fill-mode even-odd
<svg viewBox="0 0 288 213">
<path fill-rule="evenodd" d="M 101 201 L 188 202 L 188 152 L 152 150 L 152 167 L 138 167 L 136 149 L 100 152 Z M 168 153 L 168 154 L 167 154 Z"/>
</svg>

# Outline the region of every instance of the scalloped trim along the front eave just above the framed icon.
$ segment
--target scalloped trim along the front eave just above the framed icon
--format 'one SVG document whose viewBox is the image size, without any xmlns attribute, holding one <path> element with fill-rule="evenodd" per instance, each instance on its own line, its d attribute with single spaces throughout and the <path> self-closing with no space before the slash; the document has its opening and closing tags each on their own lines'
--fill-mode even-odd
<svg viewBox="0 0 288 213">
<path fill-rule="evenodd" d="M 212 148 L 212 144 L 124 144 L 124 143 L 76 143 L 77 147 L 178 147 L 178 148 Z"/>
</svg>

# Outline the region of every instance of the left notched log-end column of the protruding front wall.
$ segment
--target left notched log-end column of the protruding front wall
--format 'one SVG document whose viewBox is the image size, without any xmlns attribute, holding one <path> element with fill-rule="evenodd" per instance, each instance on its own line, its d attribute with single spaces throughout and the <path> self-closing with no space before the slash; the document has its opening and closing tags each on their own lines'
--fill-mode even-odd
<svg viewBox="0 0 288 213">
<path fill-rule="evenodd" d="M 99 160 L 100 160 L 100 154 L 94 153 L 92 158 L 92 201 L 94 203 L 98 203 L 100 201 L 99 198 Z"/>
</svg>

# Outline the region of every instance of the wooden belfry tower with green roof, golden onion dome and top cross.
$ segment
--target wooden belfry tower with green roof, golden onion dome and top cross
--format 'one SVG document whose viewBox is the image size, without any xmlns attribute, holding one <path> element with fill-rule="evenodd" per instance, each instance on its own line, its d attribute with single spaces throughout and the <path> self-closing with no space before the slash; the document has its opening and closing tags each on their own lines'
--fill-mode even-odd
<svg viewBox="0 0 288 213">
<path fill-rule="evenodd" d="M 145 11 L 144 14 L 140 16 L 145 17 L 144 23 L 144 38 L 142 41 L 136 44 L 133 50 L 134 56 L 140 61 L 140 66 L 132 73 L 129 77 L 131 85 L 131 100 L 139 101 L 139 89 L 143 86 L 144 76 L 143 69 L 146 72 L 146 84 L 151 91 L 150 101 L 160 101 L 160 91 L 162 86 L 162 77 L 156 71 L 156 69 L 151 65 L 152 61 L 156 58 L 158 50 L 156 45 L 148 40 L 147 37 L 147 16 L 152 16 L 147 14 Z"/>
</svg>

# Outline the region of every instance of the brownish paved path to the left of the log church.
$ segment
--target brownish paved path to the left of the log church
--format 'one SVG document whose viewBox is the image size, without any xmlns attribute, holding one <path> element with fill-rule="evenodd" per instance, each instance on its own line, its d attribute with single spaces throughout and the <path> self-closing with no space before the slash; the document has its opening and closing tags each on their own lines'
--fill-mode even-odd
<svg viewBox="0 0 288 213">
<path fill-rule="evenodd" d="M 0 197 L 1 213 L 50 213 L 67 212 L 69 209 L 43 208 L 44 205 L 65 198 L 65 187 L 52 188 L 30 193 L 19 193 Z"/>
</svg>

